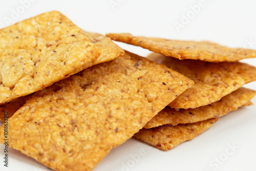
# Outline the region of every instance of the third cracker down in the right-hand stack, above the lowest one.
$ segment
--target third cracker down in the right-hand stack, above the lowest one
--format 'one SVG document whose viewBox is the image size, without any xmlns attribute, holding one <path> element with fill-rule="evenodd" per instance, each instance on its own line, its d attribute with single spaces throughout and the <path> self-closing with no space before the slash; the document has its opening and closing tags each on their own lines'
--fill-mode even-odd
<svg viewBox="0 0 256 171">
<path fill-rule="evenodd" d="M 256 91 L 240 88 L 231 94 L 226 95 L 217 102 L 201 106 L 196 109 L 180 109 L 177 111 L 175 109 L 165 108 L 147 122 L 144 128 L 150 129 L 152 127 L 165 124 L 177 125 L 195 123 L 211 118 L 221 117 L 231 111 L 237 110 L 245 104 L 248 105 L 255 94 Z"/>
</svg>

